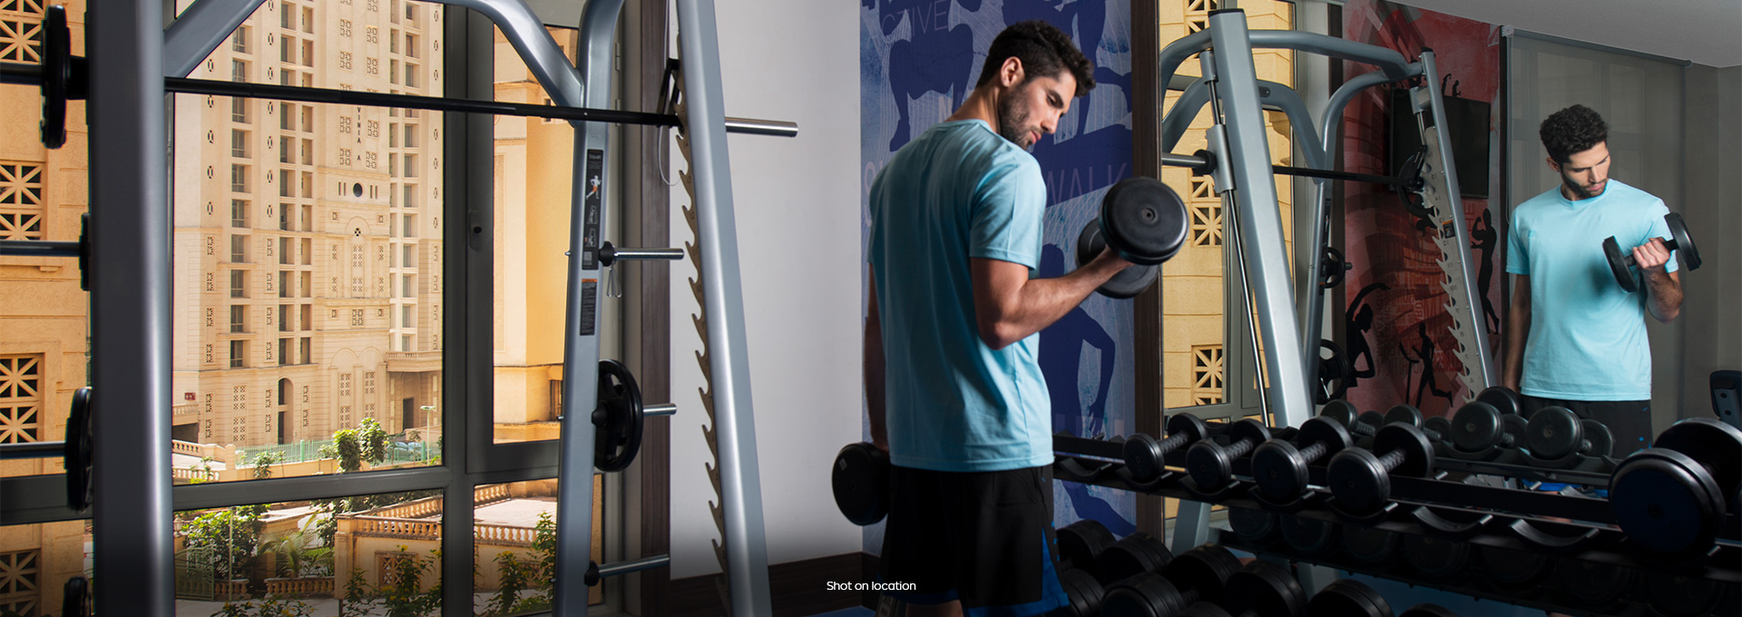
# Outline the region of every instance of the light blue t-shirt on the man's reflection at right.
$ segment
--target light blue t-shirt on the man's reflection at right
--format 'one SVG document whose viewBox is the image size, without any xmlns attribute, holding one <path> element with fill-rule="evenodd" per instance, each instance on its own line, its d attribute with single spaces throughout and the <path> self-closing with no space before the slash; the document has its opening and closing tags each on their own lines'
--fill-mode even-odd
<svg viewBox="0 0 1742 617">
<path fill-rule="evenodd" d="M 1529 275 L 1531 321 L 1519 390 L 1566 401 L 1651 399 L 1646 291 L 1627 293 L 1603 239 L 1622 253 L 1669 239 L 1662 199 L 1610 178 L 1603 195 L 1570 200 L 1556 186 L 1512 209 L 1507 272 Z M 1671 253 L 1669 272 L 1676 272 Z M 1637 272 L 1637 270 L 1636 270 Z"/>
</svg>

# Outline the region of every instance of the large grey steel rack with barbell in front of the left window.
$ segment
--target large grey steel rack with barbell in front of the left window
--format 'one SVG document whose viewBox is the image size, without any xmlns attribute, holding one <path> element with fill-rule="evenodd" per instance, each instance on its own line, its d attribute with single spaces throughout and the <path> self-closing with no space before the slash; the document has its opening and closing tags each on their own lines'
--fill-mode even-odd
<svg viewBox="0 0 1742 617">
<path fill-rule="evenodd" d="M 615 30 L 622 0 L 596 0 L 580 24 L 582 63 L 573 66 L 550 38 L 540 17 L 521 0 L 436 0 L 484 14 L 507 40 L 557 106 L 453 101 L 345 91 L 294 89 L 256 84 L 188 80 L 186 75 L 242 24 L 263 0 L 199 0 L 167 30 L 159 2 L 94 0 L 87 23 L 91 216 L 84 249 L 91 251 L 92 383 L 110 394 L 110 411 L 94 422 L 101 448 L 94 464 L 94 572 L 105 580 L 101 605 L 132 607 L 143 615 L 174 614 L 169 417 L 171 417 L 171 209 L 164 94 L 268 96 L 315 103 L 434 108 L 474 113 L 544 115 L 571 119 L 575 139 L 571 190 L 568 308 L 564 336 L 564 401 L 598 399 L 601 230 L 608 211 L 610 174 L 606 122 L 681 125 L 690 159 L 702 302 L 718 328 L 707 329 L 712 382 L 712 436 L 719 455 L 723 566 L 730 580 L 728 608 L 735 615 L 772 610 L 768 554 L 761 514 L 751 413 L 749 356 L 744 335 L 744 300 L 739 281 L 730 162 L 725 132 L 791 134 L 791 125 L 726 119 L 721 103 L 719 44 L 712 2 L 678 0 L 678 44 L 688 66 L 679 80 L 685 115 L 660 117 L 608 110 Z M 167 78 L 165 78 L 167 75 Z M 45 82 L 42 68 L 9 64 L 5 82 Z M 61 85 L 56 82 L 56 85 Z M 589 87 L 592 85 L 592 87 Z M 209 91 L 209 92 L 207 92 Z M 362 98 L 359 98 L 362 96 Z M 373 96 L 373 98 L 371 98 Z M 61 103 L 64 105 L 64 103 Z M 592 122 L 585 122 L 592 120 Z M 47 141 L 47 139 L 45 139 Z M 56 143 L 51 143 L 57 146 Z M 596 190 L 592 190 L 596 188 Z M 59 242 L 66 244 L 66 242 Z M 42 244 L 49 253 L 64 247 Z M 9 246 L 5 253 L 38 251 Z M 56 253 L 57 251 L 57 253 Z M 676 251 L 618 251 L 617 260 L 674 258 Z M 118 396 L 118 392 L 129 392 Z M 125 401 L 125 403 L 120 403 Z M 648 410 L 671 413 L 671 408 Z M 599 577 L 669 563 L 646 556 L 599 566 L 592 554 L 594 425 L 589 413 L 561 418 L 559 523 L 554 614 L 587 614 L 587 586 Z M 37 488 L 35 483 L 30 483 Z M 368 490 L 369 483 L 354 483 Z M 108 507 L 105 507 L 108 505 Z M 186 504 L 183 504 L 186 505 Z M 113 512 L 113 514 L 110 514 Z M 106 514 L 106 516 L 103 516 Z M 467 572 L 470 568 L 444 568 Z M 458 587 L 458 586 L 456 586 Z M 578 593 L 578 596 L 577 596 Z M 453 594 L 449 594 L 453 596 Z M 465 594 L 469 598 L 469 594 Z M 577 601 L 577 598 L 580 598 Z M 463 608 L 463 607 L 460 607 Z"/>
</svg>

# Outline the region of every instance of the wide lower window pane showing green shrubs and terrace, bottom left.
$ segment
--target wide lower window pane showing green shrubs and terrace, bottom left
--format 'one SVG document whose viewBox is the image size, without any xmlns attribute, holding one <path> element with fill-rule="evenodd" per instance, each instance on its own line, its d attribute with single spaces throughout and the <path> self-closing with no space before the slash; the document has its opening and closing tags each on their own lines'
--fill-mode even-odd
<svg viewBox="0 0 1742 617">
<path fill-rule="evenodd" d="M 439 615 L 441 492 L 176 512 L 176 614 Z"/>
</svg>

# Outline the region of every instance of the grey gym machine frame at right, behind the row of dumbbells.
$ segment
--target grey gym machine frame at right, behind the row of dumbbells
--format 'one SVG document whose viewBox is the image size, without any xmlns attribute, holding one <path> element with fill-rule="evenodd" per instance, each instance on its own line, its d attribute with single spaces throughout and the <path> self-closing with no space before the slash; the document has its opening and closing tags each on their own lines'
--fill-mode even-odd
<svg viewBox="0 0 1742 617">
<path fill-rule="evenodd" d="M 1286 85 L 1258 80 L 1252 49 L 1294 49 L 1367 63 L 1380 70 L 1348 80 L 1331 96 L 1331 105 L 1320 122 L 1326 127 L 1320 143 L 1300 94 Z M 1329 227 L 1326 206 L 1331 193 L 1326 180 L 1401 183 L 1385 176 L 1331 171 L 1336 153 L 1336 127 L 1341 125 L 1343 108 L 1361 91 L 1435 75 L 1434 52 L 1423 51 L 1420 61 L 1409 63 L 1395 51 L 1326 35 L 1249 31 L 1242 10 L 1223 9 L 1211 12 L 1204 30 L 1162 49 L 1157 84 L 1172 82 L 1179 64 L 1192 56 L 1198 56 L 1204 77 L 1186 87 L 1162 119 L 1160 160 L 1164 166 L 1192 167 L 1195 173 L 1212 176 L 1223 200 L 1223 211 L 1228 213 L 1232 227 L 1235 227 L 1235 232 L 1230 234 L 1230 244 L 1233 244 L 1230 253 L 1240 265 L 1240 281 L 1247 289 L 1246 298 L 1256 300 L 1256 312 L 1247 310 L 1247 319 L 1265 326 L 1261 333 L 1256 333 L 1258 328 L 1252 324 L 1252 345 L 1256 347 L 1258 336 L 1263 336 L 1263 347 L 1272 350 L 1261 357 L 1263 375 L 1270 383 L 1268 392 L 1261 392 L 1265 415 L 1277 427 L 1300 425 L 1312 415 L 1313 399 L 1306 392 L 1317 382 L 1319 322 L 1324 308 L 1319 277 L 1313 274 L 1319 270 L 1319 254 Z M 1421 85 L 1411 89 L 1411 99 L 1416 101 L 1413 113 L 1421 127 L 1421 141 L 1428 148 L 1425 185 L 1420 186 L 1420 192 L 1437 220 L 1435 227 L 1441 228 L 1435 242 L 1442 253 L 1441 268 L 1446 270 L 1444 288 L 1451 296 L 1448 310 L 1453 314 L 1453 333 L 1460 342 L 1460 349 L 1455 352 L 1465 366 L 1465 387 L 1470 392 L 1479 392 L 1495 383 L 1496 378 L 1493 361 L 1488 356 L 1488 336 L 1479 328 L 1481 321 L 1475 314 L 1481 298 L 1469 284 L 1475 275 L 1470 263 L 1463 260 L 1469 232 L 1458 195 L 1456 169 L 1451 166 L 1451 141 L 1437 129 L 1446 125 L 1439 84 L 1423 78 Z M 1207 150 L 1200 155 L 1171 153 L 1205 103 L 1214 110 L 1214 124 L 1205 134 Z M 1275 108 L 1289 117 L 1291 125 L 1305 136 L 1301 152 L 1306 164 L 1317 169 L 1273 169 L 1270 166 L 1270 145 L 1265 136 L 1261 108 Z M 1289 265 L 1287 254 L 1282 251 L 1282 221 L 1272 173 L 1319 178 L 1310 218 L 1313 225 L 1308 246 L 1312 249 L 1300 251 L 1305 258 L 1296 261 L 1294 286 L 1298 291 L 1294 295 L 1289 293 Z M 1298 300 L 1296 305 L 1291 307 L 1291 300 Z M 1246 308 L 1242 307 L 1242 310 Z M 1301 349 L 1301 354 L 1280 352 L 1286 349 Z M 1256 349 L 1254 357 L 1259 357 Z M 1272 392 L 1275 396 L 1266 396 Z M 1207 528 L 1209 505 L 1181 504 L 1174 542 L 1200 544 L 1207 539 Z"/>
</svg>

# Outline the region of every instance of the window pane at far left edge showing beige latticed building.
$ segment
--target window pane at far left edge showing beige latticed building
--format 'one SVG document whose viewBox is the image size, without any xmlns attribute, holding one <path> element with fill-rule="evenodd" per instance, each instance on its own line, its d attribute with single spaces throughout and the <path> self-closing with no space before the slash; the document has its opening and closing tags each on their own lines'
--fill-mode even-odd
<svg viewBox="0 0 1742 617">
<path fill-rule="evenodd" d="M 47 5 L 0 3 L 0 61 L 35 64 L 42 59 L 38 33 Z M 66 21 L 73 31 L 82 31 L 84 3 L 68 7 Z M 73 38 L 73 54 L 84 54 L 82 42 Z M 40 108 L 38 89 L 0 87 L 0 110 L 9 110 L 0 115 L 7 136 L 0 152 L 0 241 L 77 242 L 78 216 L 89 209 L 91 193 L 85 101 L 66 101 L 66 145 L 59 150 L 45 148 L 38 138 Z M 89 383 L 91 295 L 78 288 L 78 263 L 68 258 L 0 256 L 0 298 L 9 300 L 0 308 L 3 444 L 66 436 L 73 390 Z M 0 476 L 61 471 L 59 457 L 0 460 Z M 16 546 L 23 544 L 0 542 L 0 553 Z M 0 587 L 0 598 L 3 594 Z M 0 600 L 0 612 L 5 607 Z"/>
</svg>

